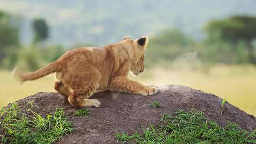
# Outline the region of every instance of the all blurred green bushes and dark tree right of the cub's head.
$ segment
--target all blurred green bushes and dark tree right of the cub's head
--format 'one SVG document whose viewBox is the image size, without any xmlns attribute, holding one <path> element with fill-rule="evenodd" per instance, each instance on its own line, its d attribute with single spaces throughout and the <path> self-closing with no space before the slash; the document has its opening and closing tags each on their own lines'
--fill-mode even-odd
<svg viewBox="0 0 256 144">
<path fill-rule="evenodd" d="M 253 40 L 256 38 L 256 17 L 233 16 L 210 21 L 205 28 L 207 39 L 194 42 L 177 30 L 166 30 L 150 40 L 146 66 L 164 63 L 256 64 Z M 173 62 L 173 63 L 172 63 Z M 183 64 L 183 63 L 179 63 Z"/>
</svg>

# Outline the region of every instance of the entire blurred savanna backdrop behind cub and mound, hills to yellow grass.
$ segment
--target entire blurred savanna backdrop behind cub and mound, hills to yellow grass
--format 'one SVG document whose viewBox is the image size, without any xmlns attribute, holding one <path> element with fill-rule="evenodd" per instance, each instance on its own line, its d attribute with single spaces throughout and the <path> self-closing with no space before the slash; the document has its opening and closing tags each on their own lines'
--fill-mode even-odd
<svg viewBox="0 0 256 144">
<path fill-rule="evenodd" d="M 0 107 L 40 91 L 52 76 L 35 71 L 81 46 L 148 35 L 144 84 L 179 84 L 213 93 L 256 116 L 255 0 L 0 0 Z"/>
</svg>

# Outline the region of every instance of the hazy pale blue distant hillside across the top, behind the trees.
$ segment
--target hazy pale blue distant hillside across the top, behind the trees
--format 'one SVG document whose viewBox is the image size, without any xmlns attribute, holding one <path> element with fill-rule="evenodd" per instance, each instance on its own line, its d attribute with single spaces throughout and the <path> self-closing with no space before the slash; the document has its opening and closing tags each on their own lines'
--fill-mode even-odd
<svg viewBox="0 0 256 144">
<path fill-rule="evenodd" d="M 50 24 L 50 43 L 105 45 L 168 28 L 201 40 L 210 19 L 256 15 L 256 0 L 0 0 L 0 9 L 23 16 L 25 44 L 32 37 L 31 18 L 41 17 Z"/>
</svg>

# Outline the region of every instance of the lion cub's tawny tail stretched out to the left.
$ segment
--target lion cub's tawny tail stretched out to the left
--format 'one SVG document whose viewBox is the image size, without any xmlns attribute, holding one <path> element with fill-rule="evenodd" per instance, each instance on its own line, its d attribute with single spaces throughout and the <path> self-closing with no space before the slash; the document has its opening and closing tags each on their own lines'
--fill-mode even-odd
<svg viewBox="0 0 256 144">
<path fill-rule="evenodd" d="M 46 65 L 44 68 L 37 70 L 36 72 L 25 74 L 23 74 L 18 67 L 15 67 L 12 71 L 12 76 L 17 78 L 21 83 L 23 83 L 24 81 L 39 79 L 48 74 L 54 73 L 57 71 L 58 66 L 58 62 L 55 61 L 53 63 Z"/>
</svg>

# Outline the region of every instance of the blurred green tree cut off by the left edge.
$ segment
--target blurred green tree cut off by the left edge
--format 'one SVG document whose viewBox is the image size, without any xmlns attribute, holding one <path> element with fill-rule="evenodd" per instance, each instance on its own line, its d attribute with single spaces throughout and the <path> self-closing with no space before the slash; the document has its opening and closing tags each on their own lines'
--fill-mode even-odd
<svg viewBox="0 0 256 144">
<path fill-rule="evenodd" d="M 19 28 L 17 21 L 5 12 L 0 11 L 0 61 L 9 47 L 19 46 Z"/>
</svg>

